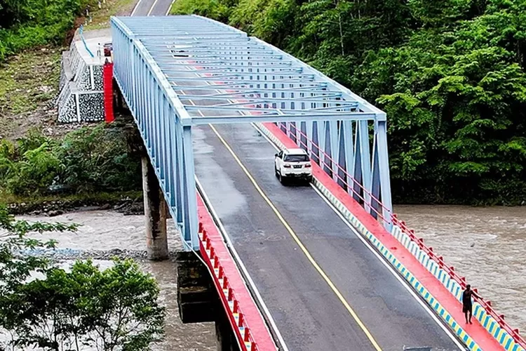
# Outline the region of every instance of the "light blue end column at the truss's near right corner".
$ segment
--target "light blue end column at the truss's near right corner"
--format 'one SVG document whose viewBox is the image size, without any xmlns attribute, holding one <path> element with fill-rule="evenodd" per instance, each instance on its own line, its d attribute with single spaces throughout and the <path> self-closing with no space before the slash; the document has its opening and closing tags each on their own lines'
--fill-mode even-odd
<svg viewBox="0 0 526 351">
<path fill-rule="evenodd" d="M 377 126 L 378 167 L 382 204 L 385 206 L 383 216 L 386 218 L 386 223 L 384 223 L 384 226 L 386 230 L 391 232 L 391 213 L 393 213 L 393 204 L 391 202 L 391 177 L 389 176 L 389 154 L 387 151 L 387 121 L 385 118 L 383 119 L 383 121 L 378 121 Z"/>
</svg>

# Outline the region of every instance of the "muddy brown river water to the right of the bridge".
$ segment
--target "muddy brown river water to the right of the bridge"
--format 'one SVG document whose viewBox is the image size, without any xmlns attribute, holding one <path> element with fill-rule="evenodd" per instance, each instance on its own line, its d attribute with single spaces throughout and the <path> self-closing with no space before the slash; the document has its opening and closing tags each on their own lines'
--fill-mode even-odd
<svg viewBox="0 0 526 351">
<path fill-rule="evenodd" d="M 526 331 L 526 206 L 395 206 L 506 321 Z"/>
</svg>

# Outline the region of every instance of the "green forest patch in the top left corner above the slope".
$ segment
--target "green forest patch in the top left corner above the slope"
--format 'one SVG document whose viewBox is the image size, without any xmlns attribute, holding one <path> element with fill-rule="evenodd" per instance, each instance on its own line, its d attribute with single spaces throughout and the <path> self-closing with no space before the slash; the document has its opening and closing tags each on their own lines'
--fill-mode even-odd
<svg viewBox="0 0 526 351">
<path fill-rule="evenodd" d="M 94 0 L 0 0 L 0 62 L 44 44 L 62 44 Z"/>
</svg>

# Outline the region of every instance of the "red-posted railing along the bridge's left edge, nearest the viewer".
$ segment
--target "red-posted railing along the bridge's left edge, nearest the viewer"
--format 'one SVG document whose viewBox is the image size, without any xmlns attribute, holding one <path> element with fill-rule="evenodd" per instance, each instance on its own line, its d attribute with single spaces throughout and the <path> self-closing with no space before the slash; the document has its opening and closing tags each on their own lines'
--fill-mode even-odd
<svg viewBox="0 0 526 351">
<path fill-rule="evenodd" d="M 244 318 L 245 314 L 243 314 L 243 310 L 241 309 L 239 301 L 236 298 L 236 293 L 234 292 L 234 289 L 232 289 L 228 277 L 224 274 L 221 260 L 215 254 L 215 250 L 212 246 L 210 238 L 208 237 L 208 233 L 203 228 L 202 223 L 199 223 L 199 232 L 203 233 L 203 239 L 201 241 L 202 249 L 209 252 L 208 256 L 210 258 L 210 263 L 213 264 L 213 267 L 210 268 L 217 270 L 218 282 L 221 285 L 220 289 L 222 289 L 223 293 L 222 298 L 224 298 L 225 302 L 227 303 L 227 306 L 225 307 L 229 308 L 231 312 L 228 313 L 227 311 L 227 313 L 229 314 L 230 318 L 234 318 L 232 322 L 237 326 L 236 330 L 234 330 L 234 333 L 236 333 L 238 340 L 242 340 L 243 342 L 243 345 L 241 345 L 241 350 L 257 351 L 257 344 L 254 340 L 254 337 L 252 336 L 252 332 L 250 331 L 250 326 L 248 326 L 248 323 Z M 238 315 L 237 320 L 234 317 L 236 314 Z M 245 343 L 250 343 L 250 348 L 248 348 Z"/>
</svg>

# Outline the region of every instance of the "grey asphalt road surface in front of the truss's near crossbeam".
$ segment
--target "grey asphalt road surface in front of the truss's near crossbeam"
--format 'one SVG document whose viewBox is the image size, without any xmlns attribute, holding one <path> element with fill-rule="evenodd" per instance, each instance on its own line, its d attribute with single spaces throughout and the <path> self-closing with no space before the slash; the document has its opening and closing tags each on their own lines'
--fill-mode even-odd
<svg viewBox="0 0 526 351">
<path fill-rule="evenodd" d="M 382 350 L 458 350 L 311 187 L 281 185 L 274 148 L 248 124 L 215 126 Z M 363 329 L 212 128 L 194 131 L 196 175 L 290 350 L 374 350 Z"/>
</svg>

